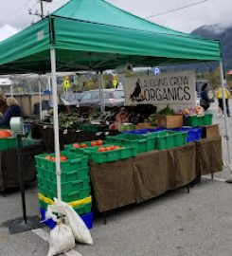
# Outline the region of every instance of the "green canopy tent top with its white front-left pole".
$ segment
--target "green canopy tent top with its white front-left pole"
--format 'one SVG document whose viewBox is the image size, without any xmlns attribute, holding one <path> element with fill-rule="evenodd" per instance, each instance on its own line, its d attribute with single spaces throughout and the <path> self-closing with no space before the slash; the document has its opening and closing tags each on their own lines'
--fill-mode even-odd
<svg viewBox="0 0 232 256">
<path fill-rule="evenodd" d="M 58 198 L 61 171 L 57 71 L 102 71 L 126 63 L 152 66 L 202 61 L 220 61 L 223 72 L 218 41 L 155 25 L 104 0 L 71 0 L 0 43 L 0 74 L 52 74 Z"/>
</svg>

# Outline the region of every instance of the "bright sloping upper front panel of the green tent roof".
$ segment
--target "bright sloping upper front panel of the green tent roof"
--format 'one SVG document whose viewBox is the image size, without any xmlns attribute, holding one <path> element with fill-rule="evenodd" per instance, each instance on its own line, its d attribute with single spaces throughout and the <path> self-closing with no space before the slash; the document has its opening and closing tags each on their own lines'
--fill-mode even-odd
<svg viewBox="0 0 232 256">
<path fill-rule="evenodd" d="M 185 35 L 182 32 L 172 30 L 168 27 L 162 27 L 134 16 L 132 13 L 118 9 L 104 0 L 73 0 L 62 6 L 62 8 L 54 11 L 52 15 L 102 25 L 146 30 L 155 33 Z"/>
</svg>

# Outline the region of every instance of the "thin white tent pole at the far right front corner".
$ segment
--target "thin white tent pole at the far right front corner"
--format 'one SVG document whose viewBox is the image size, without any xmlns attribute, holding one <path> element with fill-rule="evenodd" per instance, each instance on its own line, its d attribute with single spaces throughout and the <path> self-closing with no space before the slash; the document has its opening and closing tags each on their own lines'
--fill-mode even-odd
<svg viewBox="0 0 232 256">
<path fill-rule="evenodd" d="M 227 116 L 226 116 L 226 108 L 225 108 L 225 99 L 224 99 L 224 82 L 223 82 L 223 62 L 220 62 L 220 79 L 221 85 L 223 88 L 223 116 L 224 116 L 224 128 L 225 128 L 225 139 L 227 145 L 227 154 L 228 154 L 228 161 L 230 167 L 230 176 L 226 180 L 226 182 L 232 183 L 232 164 L 231 164 L 231 152 L 230 152 L 230 145 L 229 145 L 229 134 L 228 134 L 228 124 L 227 124 Z"/>
</svg>

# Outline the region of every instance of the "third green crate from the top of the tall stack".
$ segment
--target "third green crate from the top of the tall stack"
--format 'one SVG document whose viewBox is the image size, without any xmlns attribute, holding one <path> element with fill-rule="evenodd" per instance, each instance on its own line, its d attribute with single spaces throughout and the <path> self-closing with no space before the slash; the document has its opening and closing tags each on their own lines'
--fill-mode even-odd
<svg viewBox="0 0 232 256">
<path fill-rule="evenodd" d="M 57 180 L 55 181 L 48 181 L 42 177 L 40 177 L 38 174 L 36 175 L 38 187 L 48 189 L 49 191 L 56 192 L 57 191 Z M 75 181 L 69 181 L 69 182 L 62 182 L 61 188 L 63 193 L 69 193 L 69 192 L 76 192 L 80 191 L 82 189 L 86 189 L 89 187 L 90 177 L 86 177 L 82 180 L 75 180 Z"/>
</svg>

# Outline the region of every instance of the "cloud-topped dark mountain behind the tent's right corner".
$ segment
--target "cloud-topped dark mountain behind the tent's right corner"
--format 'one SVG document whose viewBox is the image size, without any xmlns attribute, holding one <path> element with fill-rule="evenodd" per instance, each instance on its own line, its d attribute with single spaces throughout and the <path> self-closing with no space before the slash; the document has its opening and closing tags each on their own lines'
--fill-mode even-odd
<svg viewBox="0 0 232 256">
<path fill-rule="evenodd" d="M 220 40 L 223 50 L 223 69 L 232 69 L 232 25 L 230 27 L 222 24 L 198 27 L 191 34 L 207 39 Z"/>
</svg>

